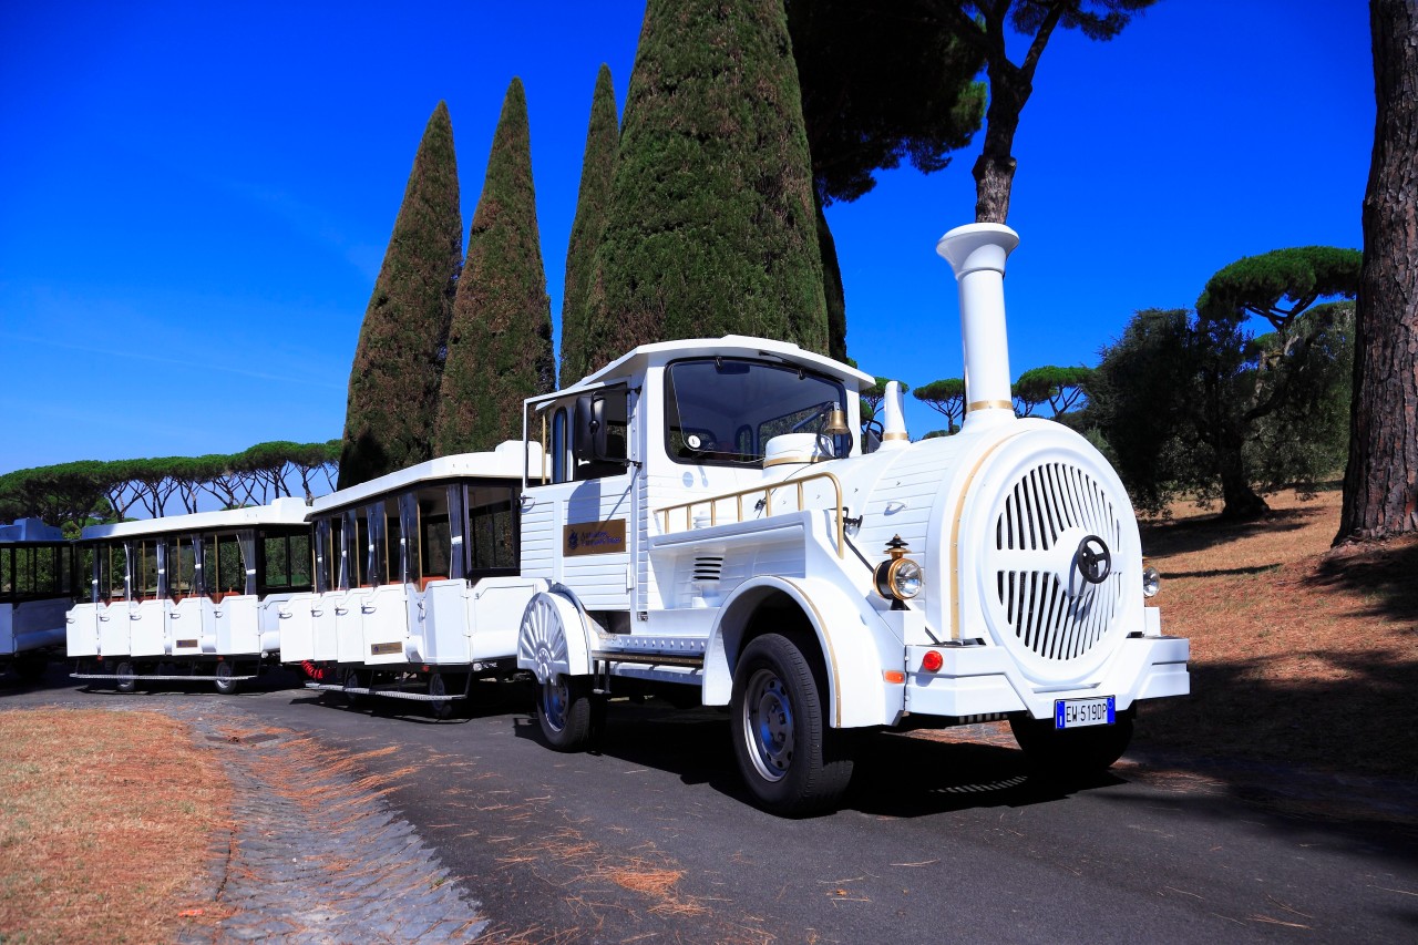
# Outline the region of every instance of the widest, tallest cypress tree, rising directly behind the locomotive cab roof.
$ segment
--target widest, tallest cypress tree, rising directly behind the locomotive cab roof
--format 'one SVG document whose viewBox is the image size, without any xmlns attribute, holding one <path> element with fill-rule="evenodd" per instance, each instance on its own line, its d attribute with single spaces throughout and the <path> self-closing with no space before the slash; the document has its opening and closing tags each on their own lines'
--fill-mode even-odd
<svg viewBox="0 0 1418 945">
<path fill-rule="evenodd" d="M 727 332 L 827 350 L 781 0 L 649 0 L 596 268 L 597 363 Z"/>
</svg>

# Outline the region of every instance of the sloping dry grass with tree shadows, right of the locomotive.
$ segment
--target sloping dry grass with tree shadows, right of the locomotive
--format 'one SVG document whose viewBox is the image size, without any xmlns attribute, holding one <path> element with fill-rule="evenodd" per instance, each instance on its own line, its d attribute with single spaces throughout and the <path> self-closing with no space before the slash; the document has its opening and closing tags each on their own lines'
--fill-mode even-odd
<svg viewBox="0 0 1418 945">
<path fill-rule="evenodd" d="M 1143 528 L 1193 695 L 1147 705 L 1143 744 L 1418 778 L 1418 538 L 1332 552 L 1340 494 L 1268 497 L 1251 525 L 1178 504 Z"/>
</svg>

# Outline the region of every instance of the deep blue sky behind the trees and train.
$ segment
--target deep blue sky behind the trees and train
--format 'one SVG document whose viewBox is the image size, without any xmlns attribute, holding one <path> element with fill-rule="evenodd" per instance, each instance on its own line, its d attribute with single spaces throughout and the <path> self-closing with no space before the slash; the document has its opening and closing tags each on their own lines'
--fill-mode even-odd
<svg viewBox="0 0 1418 945">
<path fill-rule="evenodd" d="M 596 71 L 624 106 L 642 11 L 0 6 L 0 472 L 340 436 L 424 123 L 445 99 L 467 228 L 515 75 L 559 321 Z M 1242 255 L 1360 247 L 1373 129 L 1363 0 L 1163 0 L 1112 43 L 1058 34 L 1015 140 L 1012 373 L 1096 363 Z M 865 370 L 960 376 L 934 243 L 973 219 L 977 150 L 828 210 Z"/>
</svg>

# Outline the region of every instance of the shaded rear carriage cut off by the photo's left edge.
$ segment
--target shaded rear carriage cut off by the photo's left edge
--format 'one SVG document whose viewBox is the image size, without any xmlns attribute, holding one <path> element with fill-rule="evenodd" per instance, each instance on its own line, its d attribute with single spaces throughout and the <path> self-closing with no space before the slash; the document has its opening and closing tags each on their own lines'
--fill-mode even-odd
<svg viewBox="0 0 1418 945">
<path fill-rule="evenodd" d="M 74 546 L 60 529 L 37 518 L 0 525 L 0 674 L 44 674 L 64 648 L 72 596 Z"/>
</svg>

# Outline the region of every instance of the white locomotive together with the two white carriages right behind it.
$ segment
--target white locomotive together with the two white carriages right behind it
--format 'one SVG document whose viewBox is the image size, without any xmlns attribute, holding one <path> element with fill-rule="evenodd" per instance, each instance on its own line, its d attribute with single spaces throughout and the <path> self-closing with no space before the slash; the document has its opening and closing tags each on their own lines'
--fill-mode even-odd
<svg viewBox="0 0 1418 945">
<path fill-rule="evenodd" d="M 228 691 L 279 660 L 442 717 L 523 673 L 560 751 L 610 697 L 654 690 L 727 707 L 744 783 L 778 813 L 832 806 L 856 735 L 883 728 L 1008 719 L 1042 770 L 1106 768 L 1140 701 L 1188 692 L 1188 641 L 1146 604 L 1107 461 L 1014 414 L 1017 243 L 971 224 L 937 244 L 960 291 L 954 436 L 912 443 L 891 385 L 864 443 L 873 377 L 791 343 L 644 345 L 529 399 L 522 443 L 311 505 L 85 529 L 77 675 L 207 667 Z"/>
</svg>

